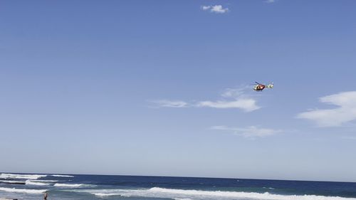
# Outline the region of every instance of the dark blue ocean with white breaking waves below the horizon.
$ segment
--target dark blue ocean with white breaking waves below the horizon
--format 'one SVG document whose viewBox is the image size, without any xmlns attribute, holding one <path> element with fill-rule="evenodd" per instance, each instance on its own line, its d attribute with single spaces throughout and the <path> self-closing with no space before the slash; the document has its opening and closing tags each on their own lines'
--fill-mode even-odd
<svg viewBox="0 0 356 200">
<path fill-rule="evenodd" d="M 356 200 L 356 183 L 140 177 L 78 174 L 0 174 L 0 197 L 11 199 L 281 199 Z"/>
</svg>

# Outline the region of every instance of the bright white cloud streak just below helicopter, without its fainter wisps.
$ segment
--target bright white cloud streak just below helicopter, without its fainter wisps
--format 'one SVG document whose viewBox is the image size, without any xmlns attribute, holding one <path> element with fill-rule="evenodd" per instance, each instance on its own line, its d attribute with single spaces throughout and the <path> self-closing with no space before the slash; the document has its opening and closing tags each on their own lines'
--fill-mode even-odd
<svg viewBox="0 0 356 200">
<path fill-rule="evenodd" d="M 260 107 L 256 105 L 254 99 L 238 99 L 233 101 L 201 101 L 197 103 L 198 107 L 214 107 L 214 108 L 239 108 L 245 112 L 258 110 Z"/>
</svg>

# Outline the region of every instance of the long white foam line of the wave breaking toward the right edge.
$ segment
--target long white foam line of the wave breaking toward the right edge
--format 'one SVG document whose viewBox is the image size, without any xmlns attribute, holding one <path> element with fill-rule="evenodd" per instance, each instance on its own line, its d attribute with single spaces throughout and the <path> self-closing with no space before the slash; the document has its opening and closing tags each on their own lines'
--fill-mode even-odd
<svg viewBox="0 0 356 200">
<path fill-rule="evenodd" d="M 263 200 L 356 200 L 339 196 L 316 196 L 316 195 L 282 195 L 244 192 L 244 191 L 203 191 L 185 189 L 165 189 L 154 187 L 151 189 L 89 189 L 75 190 L 88 192 L 95 196 L 142 196 L 171 199 L 263 199 Z"/>
</svg>

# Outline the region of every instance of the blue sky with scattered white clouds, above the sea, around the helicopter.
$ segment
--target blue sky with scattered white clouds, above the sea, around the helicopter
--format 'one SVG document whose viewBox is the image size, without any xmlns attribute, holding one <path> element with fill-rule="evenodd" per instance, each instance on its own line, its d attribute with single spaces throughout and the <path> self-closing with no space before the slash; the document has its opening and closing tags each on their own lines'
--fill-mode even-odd
<svg viewBox="0 0 356 200">
<path fill-rule="evenodd" d="M 0 171 L 356 181 L 355 8 L 1 1 Z"/>
</svg>

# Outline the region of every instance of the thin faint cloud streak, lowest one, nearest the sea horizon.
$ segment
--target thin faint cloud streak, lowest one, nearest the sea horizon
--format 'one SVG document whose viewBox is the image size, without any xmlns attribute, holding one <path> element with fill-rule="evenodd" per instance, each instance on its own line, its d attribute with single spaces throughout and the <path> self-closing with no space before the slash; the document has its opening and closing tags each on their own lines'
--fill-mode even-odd
<svg viewBox="0 0 356 200">
<path fill-rule="evenodd" d="M 226 127 L 226 126 L 214 126 L 211 127 L 212 130 L 224 130 L 228 132 L 234 133 L 234 135 L 241 135 L 243 137 L 267 137 L 271 135 L 276 135 L 282 130 L 273 130 L 273 129 L 266 129 L 266 128 L 259 128 L 255 126 L 251 127 Z"/>
</svg>

